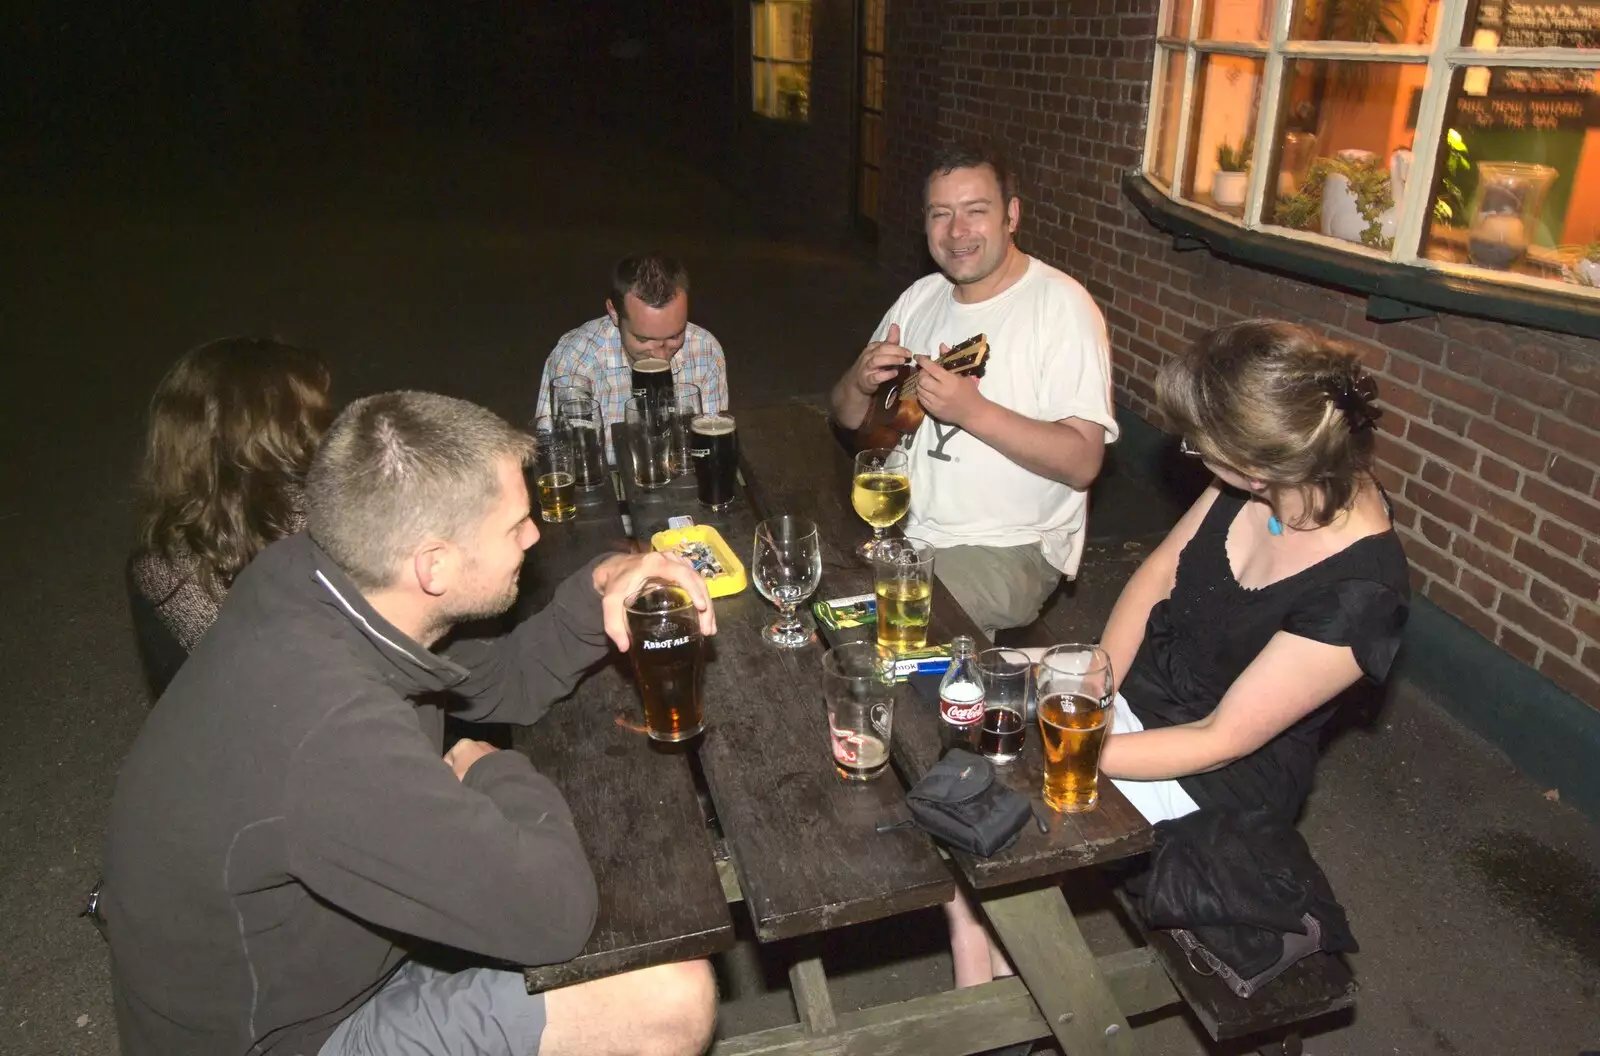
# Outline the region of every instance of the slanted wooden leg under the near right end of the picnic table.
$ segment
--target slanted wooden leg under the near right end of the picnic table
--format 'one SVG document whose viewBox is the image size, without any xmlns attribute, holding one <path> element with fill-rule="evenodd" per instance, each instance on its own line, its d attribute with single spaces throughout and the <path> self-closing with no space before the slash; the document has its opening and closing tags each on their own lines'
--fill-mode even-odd
<svg viewBox="0 0 1600 1056">
<path fill-rule="evenodd" d="M 1133 1053 L 1128 1019 L 1061 888 L 1002 894 L 982 899 L 982 906 L 1062 1053 Z"/>
</svg>

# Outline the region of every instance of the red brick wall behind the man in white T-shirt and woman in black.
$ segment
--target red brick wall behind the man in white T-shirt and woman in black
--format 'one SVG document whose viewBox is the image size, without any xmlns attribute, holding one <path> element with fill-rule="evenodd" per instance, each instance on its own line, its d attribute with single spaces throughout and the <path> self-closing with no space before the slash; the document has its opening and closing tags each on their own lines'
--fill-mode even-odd
<svg viewBox="0 0 1600 1056">
<path fill-rule="evenodd" d="M 883 262 L 923 267 L 928 144 L 989 136 L 1022 178 L 1021 242 L 1110 326 L 1118 400 L 1155 424 L 1157 366 L 1251 315 L 1352 341 L 1379 374 L 1381 478 L 1414 587 L 1600 707 L 1600 342 L 1456 317 L 1378 325 L 1365 301 L 1178 253 L 1122 197 L 1141 163 L 1155 0 L 890 5 Z"/>
</svg>

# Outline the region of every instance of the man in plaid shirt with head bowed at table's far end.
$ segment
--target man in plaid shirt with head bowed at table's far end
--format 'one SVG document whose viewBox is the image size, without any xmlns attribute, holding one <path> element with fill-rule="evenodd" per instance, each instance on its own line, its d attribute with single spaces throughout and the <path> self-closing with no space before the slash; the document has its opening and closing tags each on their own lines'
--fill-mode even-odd
<svg viewBox="0 0 1600 1056">
<path fill-rule="evenodd" d="M 611 272 L 611 296 L 605 315 L 555 342 L 539 376 L 534 414 L 550 413 L 550 379 L 562 374 L 587 378 L 606 424 L 622 421 L 634 395 L 637 360 L 672 363 L 672 379 L 699 386 L 704 411 L 728 406 L 728 368 L 722 346 L 690 322 L 690 274 L 670 256 L 630 256 Z M 606 454 L 614 461 L 610 437 Z"/>
</svg>

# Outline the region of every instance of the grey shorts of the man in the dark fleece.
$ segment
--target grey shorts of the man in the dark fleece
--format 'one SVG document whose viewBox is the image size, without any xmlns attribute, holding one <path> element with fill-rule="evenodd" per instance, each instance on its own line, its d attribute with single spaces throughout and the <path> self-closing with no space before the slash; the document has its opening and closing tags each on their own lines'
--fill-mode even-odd
<svg viewBox="0 0 1600 1056">
<path fill-rule="evenodd" d="M 520 971 L 414 960 L 341 1022 L 318 1056 L 536 1056 L 544 994 Z"/>
</svg>

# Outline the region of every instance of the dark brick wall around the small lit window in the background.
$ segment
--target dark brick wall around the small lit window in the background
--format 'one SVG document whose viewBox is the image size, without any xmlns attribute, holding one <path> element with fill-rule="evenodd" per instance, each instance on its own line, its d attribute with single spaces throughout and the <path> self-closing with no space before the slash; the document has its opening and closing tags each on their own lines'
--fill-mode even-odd
<svg viewBox="0 0 1600 1056">
<path fill-rule="evenodd" d="M 893 5 L 890 5 L 893 8 Z M 851 235 L 856 134 L 854 0 L 813 0 L 811 120 L 758 117 L 750 109 L 750 5 L 738 2 L 739 120 L 726 162 L 773 230 L 837 243 Z"/>
</svg>

